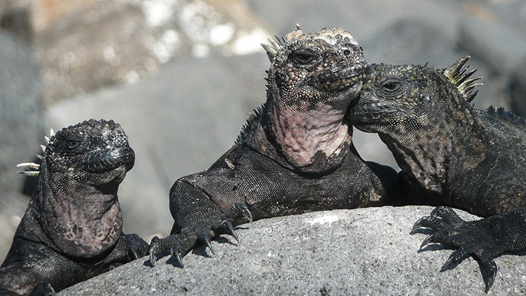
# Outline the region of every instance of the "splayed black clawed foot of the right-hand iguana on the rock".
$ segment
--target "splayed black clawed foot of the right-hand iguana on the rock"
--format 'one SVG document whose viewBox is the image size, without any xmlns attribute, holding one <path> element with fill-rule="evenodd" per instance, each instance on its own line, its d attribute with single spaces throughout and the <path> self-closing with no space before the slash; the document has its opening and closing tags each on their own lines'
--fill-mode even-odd
<svg viewBox="0 0 526 296">
<path fill-rule="evenodd" d="M 430 216 L 424 216 L 413 225 L 410 234 L 415 234 L 419 228 L 435 230 L 421 243 L 424 248 L 428 243 L 442 243 L 444 246 L 456 248 L 440 271 L 451 270 L 464 259 L 473 255 L 480 264 L 487 279 L 484 279 L 487 292 L 497 274 L 494 258 L 498 257 L 496 239 L 491 229 L 487 229 L 487 219 L 478 221 L 462 220 L 451 207 L 436 207 Z"/>
</svg>

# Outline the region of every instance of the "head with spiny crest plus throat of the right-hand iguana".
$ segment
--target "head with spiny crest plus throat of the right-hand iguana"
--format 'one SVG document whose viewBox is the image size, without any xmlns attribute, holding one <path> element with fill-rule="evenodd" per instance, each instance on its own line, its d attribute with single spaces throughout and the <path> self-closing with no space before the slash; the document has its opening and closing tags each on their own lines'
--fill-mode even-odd
<svg viewBox="0 0 526 296">
<path fill-rule="evenodd" d="M 439 70 L 373 64 L 350 108 L 352 124 L 379 133 L 410 182 L 430 192 L 443 193 L 453 149 L 461 146 L 456 138 L 474 127 L 470 101 L 480 77 L 468 79 L 475 72 L 463 68 L 468 59 Z"/>
</svg>

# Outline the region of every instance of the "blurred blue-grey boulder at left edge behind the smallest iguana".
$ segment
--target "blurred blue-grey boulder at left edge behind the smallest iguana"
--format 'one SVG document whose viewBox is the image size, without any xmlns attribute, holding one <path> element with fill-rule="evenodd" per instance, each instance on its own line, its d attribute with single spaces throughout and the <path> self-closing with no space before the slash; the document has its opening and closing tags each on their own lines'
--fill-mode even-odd
<svg viewBox="0 0 526 296">
<path fill-rule="evenodd" d="M 0 189 L 21 189 L 17 163 L 33 160 L 44 140 L 44 111 L 37 64 L 31 50 L 0 30 Z"/>
</svg>

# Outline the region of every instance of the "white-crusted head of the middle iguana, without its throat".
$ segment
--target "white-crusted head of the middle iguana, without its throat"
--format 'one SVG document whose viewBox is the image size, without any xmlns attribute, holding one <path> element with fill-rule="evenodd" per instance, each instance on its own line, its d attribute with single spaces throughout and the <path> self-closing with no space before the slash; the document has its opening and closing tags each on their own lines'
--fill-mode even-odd
<svg viewBox="0 0 526 296">
<path fill-rule="evenodd" d="M 366 63 L 362 48 L 346 30 L 323 28 L 305 35 L 297 25 L 276 39 L 269 39 L 271 46 L 262 44 L 272 63 L 267 81 L 273 100 L 308 111 L 359 93 Z"/>
</svg>

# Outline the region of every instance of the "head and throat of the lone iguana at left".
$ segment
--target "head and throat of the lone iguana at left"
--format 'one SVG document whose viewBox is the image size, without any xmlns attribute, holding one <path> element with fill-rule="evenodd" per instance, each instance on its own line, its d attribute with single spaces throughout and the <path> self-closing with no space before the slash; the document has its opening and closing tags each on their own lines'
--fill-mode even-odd
<svg viewBox="0 0 526 296">
<path fill-rule="evenodd" d="M 123 227 L 117 189 L 135 160 L 120 124 L 92 119 L 46 142 L 42 164 L 30 165 L 39 175 L 33 202 L 46 233 L 42 240 L 75 257 L 113 248 Z"/>
</svg>

